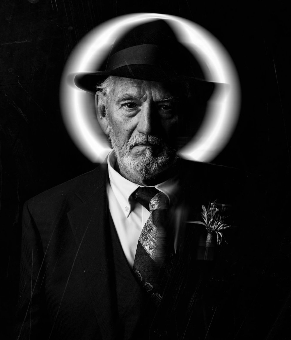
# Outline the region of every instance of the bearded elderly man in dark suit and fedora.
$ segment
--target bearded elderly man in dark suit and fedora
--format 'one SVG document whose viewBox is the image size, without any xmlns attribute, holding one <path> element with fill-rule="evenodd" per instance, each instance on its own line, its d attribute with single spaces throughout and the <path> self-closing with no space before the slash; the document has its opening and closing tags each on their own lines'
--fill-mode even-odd
<svg viewBox="0 0 291 340">
<path fill-rule="evenodd" d="M 234 204 L 235 180 L 232 170 L 177 156 L 179 134 L 213 90 L 191 59 L 157 20 L 116 41 L 105 70 L 76 76 L 95 93 L 113 151 L 26 202 L 18 339 L 211 336 L 210 278 L 219 261 L 222 277 L 228 248 L 217 245 L 221 233 L 207 236 L 200 214 L 210 203 L 207 214 L 224 209 L 215 199 Z"/>
</svg>

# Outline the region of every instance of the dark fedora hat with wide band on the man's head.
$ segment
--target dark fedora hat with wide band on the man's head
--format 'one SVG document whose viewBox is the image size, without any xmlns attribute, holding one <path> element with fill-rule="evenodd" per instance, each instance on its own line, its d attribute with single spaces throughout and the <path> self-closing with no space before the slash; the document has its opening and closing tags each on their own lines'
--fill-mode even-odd
<svg viewBox="0 0 291 340">
<path fill-rule="evenodd" d="M 75 84 L 95 93 L 110 75 L 159 82 L 189 82 L 198 98 L 207 100 L 214 83 L 204 79 L 200 65 L 164 20 L 136 26 L 116 39 L 101 69 L 78 73 Z"/>
</svg>

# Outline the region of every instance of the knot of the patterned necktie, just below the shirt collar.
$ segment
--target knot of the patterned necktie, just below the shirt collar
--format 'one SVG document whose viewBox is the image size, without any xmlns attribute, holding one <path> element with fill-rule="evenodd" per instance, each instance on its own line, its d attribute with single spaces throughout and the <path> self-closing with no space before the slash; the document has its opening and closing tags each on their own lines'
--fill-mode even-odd
<svg viewBox="0 0 291 340">
<path fill-rule="evenodd" d="M 134 191 L 133 198 L 149 212 L 156 209 L 168 209 L 169 207 L 167 196 L 155 187 L 139 187 Z"/>
</svg>

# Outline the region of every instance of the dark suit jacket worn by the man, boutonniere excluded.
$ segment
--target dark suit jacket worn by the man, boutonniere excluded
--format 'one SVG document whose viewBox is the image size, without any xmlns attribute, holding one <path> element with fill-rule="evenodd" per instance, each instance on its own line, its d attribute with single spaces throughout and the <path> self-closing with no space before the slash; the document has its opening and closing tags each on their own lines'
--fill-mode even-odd
<svg viewBox="0 0 291 340">
<path fill-rule="evenodd" d="M 19 339 L 120 339 L 107 174 L 107 166 L 100 165 L 26 202 Z M 204 227 L 183 224 L 162 303 L 143 334 L 149 339 L 248 338 L 256 329 L 249 303 L 259 283 L 249 282 L 254 258 L 244 236 L 245 179 L 233 169 L 197 162 L 182 162 L 180 176 L 184 221 L 201 220 L 202 204 L 217 199 L 235 208 L 233 227 L 225 231 L 228 244 L 216 248 L 214 260 L 201 261 L 197 246 Z"/>
</svg>

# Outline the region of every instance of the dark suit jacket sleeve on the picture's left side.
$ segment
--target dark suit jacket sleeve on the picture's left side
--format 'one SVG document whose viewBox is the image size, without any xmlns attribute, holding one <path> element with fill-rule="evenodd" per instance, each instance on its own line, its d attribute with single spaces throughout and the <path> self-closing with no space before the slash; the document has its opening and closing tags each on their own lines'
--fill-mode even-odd
<svg viewBox="0 0 291 340">
<path fill-rule="evenodd" d="M 15 318 L 15 339 L 43 339 L 48 334 L 44 303 L 45 264 L 39 231 L 30 213 L 23 207 L 19 295 Z M 43 284 L 43 285 L 42 285 Z"/>
</svg>

